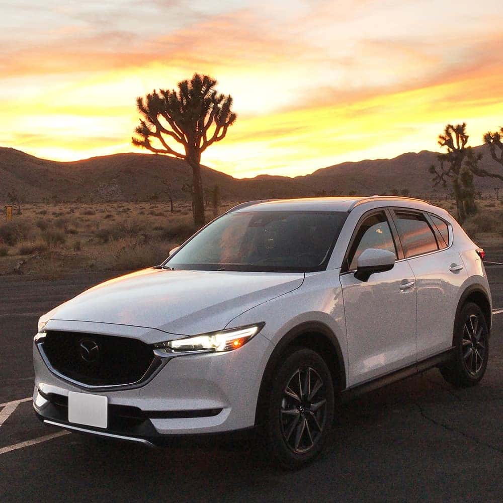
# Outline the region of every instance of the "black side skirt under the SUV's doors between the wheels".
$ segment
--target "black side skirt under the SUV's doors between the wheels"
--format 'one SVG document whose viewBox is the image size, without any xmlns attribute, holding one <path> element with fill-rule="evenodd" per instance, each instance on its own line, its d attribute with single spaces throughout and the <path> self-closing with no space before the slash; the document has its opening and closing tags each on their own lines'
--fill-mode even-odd
<svg viewBox="0 0 503 503">
<path fill-rule="evenodd" d="M 402 379 L 413 376 L 415 374 L 419 374 L 421 372 L 425 372 L 426 370 L 437 367 L 438 365 L 449 363 L 454 359 L 455 349 L 456 348 L 454 347 L 449 348 L 447 351 L 443 351 L 442 353 L 439 353 L 437 355 L 430 356 L 426 360 L 415 362 L 399 370 L 390 372 L 389 374 L 385 374 L 372 380 L 356 384 L 355 386 L 351 386 L 350 388 L 346 388 L 341 392 L 341 399 L 342 401 L 346 402 L 369 391 L 382 388 L 383 386 L 387 386 L 388 384 L 401 381 Z"/>
</svg>

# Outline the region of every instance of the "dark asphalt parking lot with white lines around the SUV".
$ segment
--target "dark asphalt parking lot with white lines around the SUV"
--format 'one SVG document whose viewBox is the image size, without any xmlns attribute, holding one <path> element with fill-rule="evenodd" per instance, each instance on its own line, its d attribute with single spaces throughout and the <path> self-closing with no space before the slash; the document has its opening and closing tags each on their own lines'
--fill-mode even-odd
<svg viewBox="0 0 503 503">
<path fill-rule="evenodd" d="M 486 269 L 503 311 L 503 266 Z M 0 501 L 503 501 L 503 312 L 478 386 L 455 389 L 433 369 L 364 395 L 342 406 L 324 456 L 292 473 L 265 461 L 253 434 L 150 449 L 38 422 L 37 319 L 110 276 L 0 278 Z"/>
</svg>

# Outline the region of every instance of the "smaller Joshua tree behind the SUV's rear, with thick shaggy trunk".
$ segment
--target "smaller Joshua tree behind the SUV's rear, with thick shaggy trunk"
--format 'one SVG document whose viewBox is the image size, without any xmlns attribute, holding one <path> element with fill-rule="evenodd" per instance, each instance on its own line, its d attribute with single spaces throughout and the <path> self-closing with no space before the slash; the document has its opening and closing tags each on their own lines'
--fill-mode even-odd
<svg viewBox="0 0 503 503">
<path fill-rule="evenodd" d="M 447 187 L 447 180 L 451 180 L 460 223 L 477 211 L 473 176 L 501 178 L 479 167 L 482 154 L 475 154 L 467 143 L 466 123 L 456 126 L 447 124 L 444 133 L 439 135 L 439 145 L 446 147 L 447 152 L 438 155 L 439 167 L 430 166 L 434 187 L 439 184 Z"/>
</svg>

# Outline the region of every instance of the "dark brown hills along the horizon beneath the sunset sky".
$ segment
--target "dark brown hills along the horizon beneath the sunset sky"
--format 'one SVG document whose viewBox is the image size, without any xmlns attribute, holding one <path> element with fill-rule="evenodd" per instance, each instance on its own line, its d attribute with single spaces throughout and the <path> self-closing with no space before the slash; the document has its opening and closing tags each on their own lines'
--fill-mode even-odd
<svg viewBox="0 0 503 503">
<path fill-rule="evenodd" d="M 481 145 L 481 166 L 502 173 Z M 411 195 L 432 196 L 446 191 L 431 187 L 428 167 L 436 162 L 435 152 L 404 153 L 393 159 L 343 162 L 316 170 L 310 175 L 289 178 L 259 175 L 235 179 L 203 167 L 205 187 L 218 185 L 223 199 L 250 200 L 274 197 L 312 196 L 321 191 L 338 195 L 389 193 L 408 189 Z M 499 170 L 499 171 L 498 171 Z M 191 182 L 192 173 L 180 159 L 146 153 L 122 153 L 92 157 L 73 162 L 40 159 L 14 148 L 0 147 L 0 201 L 15 188 L 26 202 L 51 199 L 61 201 L 145 200 L 165 189 L 162 181 L 172 184 L 175 199 L 188 199 L 182 185 Z M 488 192 L 503 183 L 490 178 L 476 178 L 478 190 Z M 166 199 L 166 194 L 160 196 Z"/>
</svg>

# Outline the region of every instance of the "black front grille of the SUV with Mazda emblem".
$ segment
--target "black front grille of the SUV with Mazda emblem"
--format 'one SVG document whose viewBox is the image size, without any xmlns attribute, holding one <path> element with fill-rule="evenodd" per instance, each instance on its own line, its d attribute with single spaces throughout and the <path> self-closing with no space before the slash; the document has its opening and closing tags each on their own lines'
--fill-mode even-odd
<svg viewBox="0 0 503 503">
<path fill-rule="evenodd" d="M 152 349 L 137 339 L 95 333 L 47 331 L 41 350 L 54 370 L 90 386 L 135 383 L 154 361 Z"/>
</svg>

